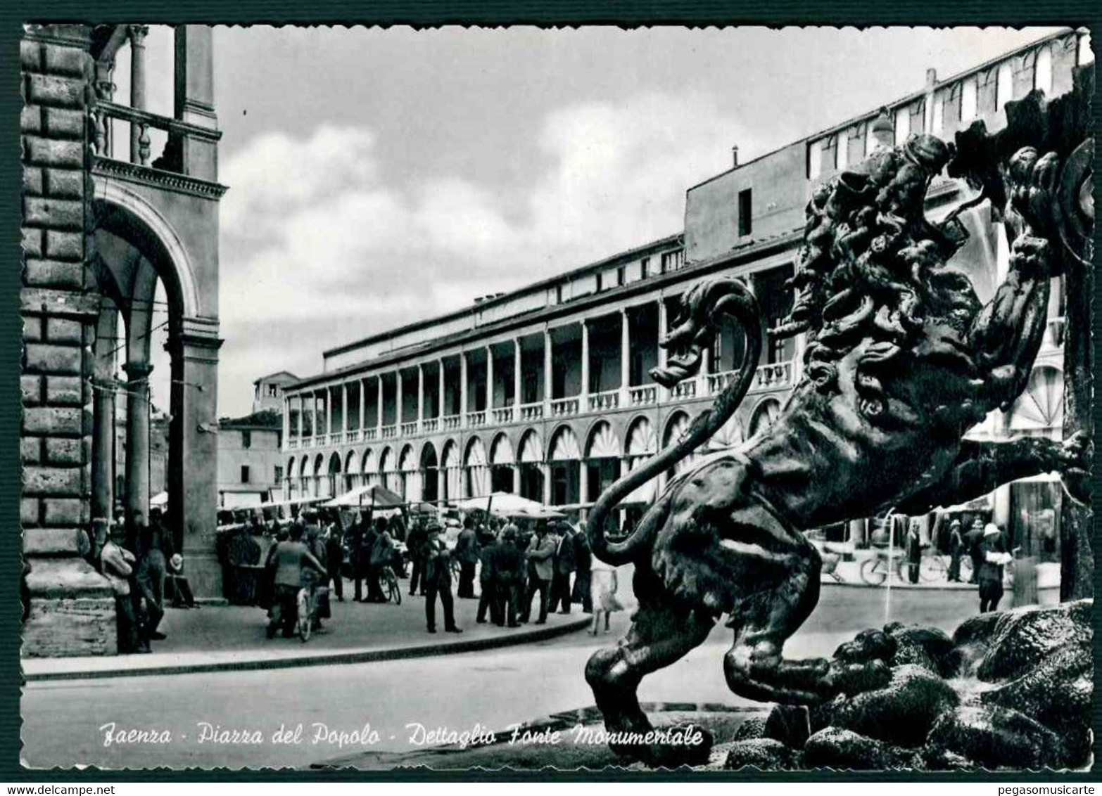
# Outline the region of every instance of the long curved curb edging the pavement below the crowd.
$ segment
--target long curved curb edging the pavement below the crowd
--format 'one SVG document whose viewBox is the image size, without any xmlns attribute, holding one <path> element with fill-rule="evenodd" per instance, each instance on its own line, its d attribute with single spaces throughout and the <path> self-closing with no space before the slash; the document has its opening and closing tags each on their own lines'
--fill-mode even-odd
<svg viewBox="0 0 1102 796">
<path fill-rule="evenodd" d="M 391 647 L 389 650 L 348 650 L 342 652 L 318 653 L 316 655 L 296 655 L 282 658 L 262 658 L 258 661 L 224 661 L 197 664 L 170 664 L 165 666 L 144 666 L 140 668 L 99 669 L 91 672 L 23 672 L 25 683 L 43 683 L 48 680 L 84 680 L 106 679 L 111 677 L 148 677 L 150 675 L 190 675 L 210 672 L 255 672 L 258 669 L 296 668 L 300 666 L 334 666 L 345 664 L 375 663 L 378 661 L 401 661 L 403 658 L 430 657 L 433 655 L 455 655 L 465 652 L 495 650 L 516 646 L 533 641 L 547 641 L 560 635 L 573 633 L 588 628 L 592 618 L 584 615 L 564 624 L 552 628 L 511 633 L 499 637 L 473 639 L 450 643 L 421 644 L 418 646 Z"/>
</svg>

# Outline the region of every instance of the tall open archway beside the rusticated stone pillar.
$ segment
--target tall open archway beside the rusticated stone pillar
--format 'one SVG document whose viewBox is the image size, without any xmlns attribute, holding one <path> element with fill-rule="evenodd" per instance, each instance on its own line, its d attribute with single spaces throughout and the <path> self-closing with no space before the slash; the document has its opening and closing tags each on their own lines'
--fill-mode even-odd
<svg viewBox="0 0 1102 796">
<path fill-rule="evenodd" d="M 213 544 L 218 260 L 217 248 L 199 240 L 210 239 L 217 203 L 183 210 L 192 206 L 165 201 L 175 194 L 94 179 L 86 262 L 101 310 L 93 344 L 91 512 L 110 520 L 118 504 L 128 517 L 148 515 L 151 487 L 168 492 L 165 523 L 176 549 L 188 554 L 193 589 L 220 595 Z M 112 452 L 121 410 L 125 465 Z"/>
</svg>

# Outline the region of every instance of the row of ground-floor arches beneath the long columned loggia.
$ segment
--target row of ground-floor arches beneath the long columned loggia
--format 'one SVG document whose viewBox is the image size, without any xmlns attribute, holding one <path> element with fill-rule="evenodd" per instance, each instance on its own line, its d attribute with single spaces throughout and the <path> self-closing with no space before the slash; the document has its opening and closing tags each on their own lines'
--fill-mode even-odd
<svg viewBox="0 0 1102 796">
<path fill-rule="evenodd" d="M 754 436 L 768 426 L 780 412 L 780 402 L 775 397 L 761 401 L 750 416 L 749 434 L 743 433 L 737 417 L 731 421 L 710 440 L 707 450 L 722 450 L 739 445 L 748 436 Z M 687 412 L 673 412 L 667 419 L 661 436 L 662 447 L 676 441 L 689 428 Z M 494 468 L 539 467 L 542 464 L 582 461 L 592 459 L 625 459 L 629 467 L 655 456 L 659 450 L 659 435 L 655 424 L 646 415 L 640 415 L 627 426 L 623 444 L 617 438 L 612 424 L 605 419 L 594 423 L 584 436 L 584 444 L 569 424 L 560 425 L 551 434 L 550 443 L 536 428 L 521 434 L 515 447 L 509 436 L 500 432 L 490 439 L 487 448 L 482 437 L 467 439 L 461 451 L 460 443 L 449 439 L 437 454 L 436 446 L 426 440 L 420 452 L 412 443 L 401 448 L 387 446 L 378 454 L 366 450 L 348 450 L 344 454 L 306 454 L 290 457 L 285 469 L 285 491 L 288 497 L 311 494 L 327 497 L 359 486 L 379 484 L 396 491 L 408 500 L 428 500 L 425 492 L 434 493 L 432 499 L 442 497 L 456 499 L 461 492 L 467 495 L 487 494 L 491 487 Z M 682 469 L 693 460 L 682 461 Z M 436 495 L 434 483 L 428 480 L 437 470 L 444 471 L 445 494 Z M 465 489 L 464 489 L 465 487 Z"/>
</svg>

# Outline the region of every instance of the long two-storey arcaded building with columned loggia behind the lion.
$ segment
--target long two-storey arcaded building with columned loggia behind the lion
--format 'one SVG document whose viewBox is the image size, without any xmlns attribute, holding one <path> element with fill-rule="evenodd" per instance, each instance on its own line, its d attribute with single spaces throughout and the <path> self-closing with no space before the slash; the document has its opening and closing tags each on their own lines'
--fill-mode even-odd
<svg viewBox="0 0 1102 796">
<path fill-rule="evenodd" d="M 284 493 L 339 493 L 382 483 L 409 500 L 453 501 L 516 492 L 582 512 L 620 473 L 676 439 L 732 378 L 739 335 L 719 334 L 701 373 L 666 390 L 647 371 L 679 297 L 696 280 L 745 277 L 767 321 L 792 303 L 786 281 L 813 188 L 876 146 L 928 132 L 951 141 L 983 120 L 1005 123 L 1003 106 L 1034 89 L 1072 89 L 1091 59 L 1084 32 L 1066 31 L 939 80 L 885 108 L 840 121 L 692 186 L 683 232 L 512 293 L 323 352 L 322 372 L 284 388 Z M 798 98 L 791 98 L 798 101 Z M 943 218 L 974 194 L 934 183 L 928 212 Z M 1005 276 L 1009 247 L 990 208 L 961 214 L 970 241 L 959 253 L 982 301 Z M 977 438 L 1058 438 L 1062 421 L 1062 291 L 1027 392 L 996 412 Z M 707 448 L 738 445 L 767 426 L 800 378 L 802 341 L 770 340 L 742 407 Z M 689 466 L 684 461 L 680 467 Z M 661 481 L 629 504 L 649 502 Z M 991 499 L 997 522 L 1051 511 L 1059 484 L 1015 483 Z M 863 522 L 844 530 L 864 541 Z"/>
</svg>

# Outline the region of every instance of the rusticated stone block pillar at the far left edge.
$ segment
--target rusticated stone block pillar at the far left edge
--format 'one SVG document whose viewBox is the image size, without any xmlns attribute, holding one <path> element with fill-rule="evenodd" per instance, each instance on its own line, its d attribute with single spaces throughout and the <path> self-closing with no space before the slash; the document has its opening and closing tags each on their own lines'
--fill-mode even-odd
<svg viewBox="0 0 1102 796">
<path fill-rule="evenodd" d="M 115 599 L 83 557 L 91 497 L 91 344 L 99 299 L 87 269 L 91 181 L 88 31 L 31 26 L 24 108 L 20 515 L 30 571 L 23 655 L 116 652 Z"/>
</svg>

